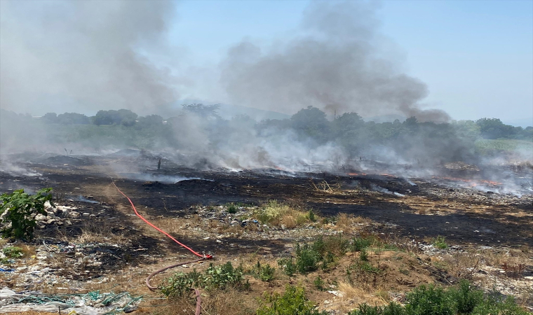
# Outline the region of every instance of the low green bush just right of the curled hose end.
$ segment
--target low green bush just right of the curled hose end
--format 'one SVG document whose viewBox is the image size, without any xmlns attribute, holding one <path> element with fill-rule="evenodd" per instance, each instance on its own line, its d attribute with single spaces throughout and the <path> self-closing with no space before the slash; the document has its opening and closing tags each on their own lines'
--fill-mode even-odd
<svg viewBox="0 0 533 315">
<path fill-rule="evenodd" d="M 166 296 L 183 296 L 190 293 L 191 288 L 216 290 L 229 287 L 238 290 L 250 288 L 250 283 L 244 279 L 243 268 L 234 268 L 231 262 L 220 266 L 210 264 L 204 272 L 176 272 L 166 279 L 166 284 L 161 285 L 160 290 Z"/>
</svg>

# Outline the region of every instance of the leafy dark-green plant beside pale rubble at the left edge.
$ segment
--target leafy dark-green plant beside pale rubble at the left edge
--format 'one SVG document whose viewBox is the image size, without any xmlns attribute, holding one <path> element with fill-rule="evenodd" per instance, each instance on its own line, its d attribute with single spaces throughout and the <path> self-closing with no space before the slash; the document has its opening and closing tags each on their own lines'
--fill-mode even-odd
<svg viewBox="0 0 533 315">
<path fill-rule="evenodd" d="M 23 189 L 15 190 L 11 194 L 0 195 L 2 204 L 0 205 L 1 234 L 3 237 L 13 237 L 15 239 L 33 239 L 34 230 L 37 225 L 35 216 L 43 214 L 46 216 L 44 204 L 52 201 L 52 188 L 44 188 L 37 191 L 36 195 L 24 193 Z"/>
</svg>

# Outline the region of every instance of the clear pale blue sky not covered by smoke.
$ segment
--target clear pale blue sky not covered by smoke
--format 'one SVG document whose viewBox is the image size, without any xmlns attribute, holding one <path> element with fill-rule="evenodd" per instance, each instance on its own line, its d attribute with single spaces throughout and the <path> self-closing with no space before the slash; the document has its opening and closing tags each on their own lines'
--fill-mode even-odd
<svg viewBox="0 0 533 315">
<path fill-rule="evenodd" d="M 295 36 L 309 1 L 182 1 L 170 41 L 215 65 L 243 38 Z M 380 1 L 379 30 L 424 102 L 454 119 L 533 117 L 533 1 Z"/>
</svg>

